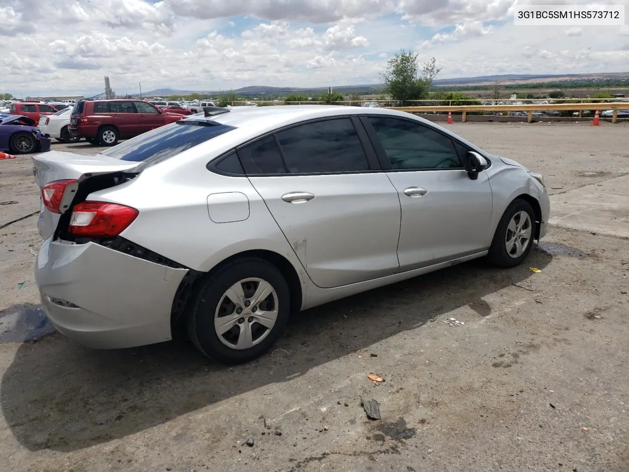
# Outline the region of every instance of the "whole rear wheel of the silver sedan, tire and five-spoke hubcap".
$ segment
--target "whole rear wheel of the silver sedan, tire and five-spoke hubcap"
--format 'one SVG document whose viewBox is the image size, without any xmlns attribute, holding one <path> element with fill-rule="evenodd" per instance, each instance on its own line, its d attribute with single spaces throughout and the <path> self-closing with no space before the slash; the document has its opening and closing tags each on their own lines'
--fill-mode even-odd
<svg viewBox="0 0 629 472">
<path fill-rule="evenodd" d="M 216 361 L 252 361 L 282 335 L 290 305 L 277 267 L 264 259 L 239 259 L 203 281 L 187 319 L 188 334 Z"/>
</svg>

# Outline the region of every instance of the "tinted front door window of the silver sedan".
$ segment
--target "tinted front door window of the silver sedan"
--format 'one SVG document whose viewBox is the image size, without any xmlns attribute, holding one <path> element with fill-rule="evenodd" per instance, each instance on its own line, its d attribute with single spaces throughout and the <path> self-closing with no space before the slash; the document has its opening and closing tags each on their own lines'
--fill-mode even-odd
<svg viewBox="0 0 629 472">
<path fill-rule="evenodd" d="M 460 168 L 450 138 L 428 126 L 397 118 L 369 118 L 393 169 Z"/>
</svg>

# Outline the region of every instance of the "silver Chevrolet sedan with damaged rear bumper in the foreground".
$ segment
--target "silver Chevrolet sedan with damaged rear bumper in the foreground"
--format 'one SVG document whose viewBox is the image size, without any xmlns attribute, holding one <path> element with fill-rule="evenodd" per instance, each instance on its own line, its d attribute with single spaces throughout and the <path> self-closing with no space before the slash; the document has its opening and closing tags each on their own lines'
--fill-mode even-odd
<svg viewBox="0 0 629 472">
<path fill-rule="evenodd" d="M 547 231 L 543 177 L 383 108 L 206 108 L 96 155 L 33 157 L 52 323 L 95 348 L 267 351 L 292 313 Z"/>
</svg>

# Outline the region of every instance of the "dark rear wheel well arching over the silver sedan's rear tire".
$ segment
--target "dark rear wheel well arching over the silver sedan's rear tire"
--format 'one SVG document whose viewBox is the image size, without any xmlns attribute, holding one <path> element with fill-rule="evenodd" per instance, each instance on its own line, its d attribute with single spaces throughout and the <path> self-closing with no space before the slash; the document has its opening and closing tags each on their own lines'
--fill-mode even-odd
<svg viewBox="0 0 629 472">
<path fill-rule="evenodd" d="M 191 269 L 186 274 L 184 279 L 179 284 L 177 293 L 175 293 L 175 297 L 172 302 L 172 309 L 170 311 L 170 327 L 173 335 L 175 335 L 175 332 L 179 332 L 181 330 L 181 322 L 185 319 L 187 313 L 189 313 L 192 301 L 194 300 L 194 296 L 192 295 L 198 291 L 201 281 L 211 276 L 213 273 L 218 271 L 218 269 L 225 266 L 225 264 L 237 259 L 245 259 L 246 257 L 258 257 L 259 259 L 264 259 L 265 261 L 270 262 L 270 264 L 276 266 L 286 279 L 288 289 L 291 292 L 291 313 L 298 312 L 301 309 L 301 282 L 299 281 L 299 276 L 291 262 L 289 262 L 286 257 L 280 256 L 277 252 L 270 250 L 247 250 L 224 259 L 219 264 L 216 264 L 216 266 L 214 266 L 209 272 L 199 272 Z"/>
</svg>

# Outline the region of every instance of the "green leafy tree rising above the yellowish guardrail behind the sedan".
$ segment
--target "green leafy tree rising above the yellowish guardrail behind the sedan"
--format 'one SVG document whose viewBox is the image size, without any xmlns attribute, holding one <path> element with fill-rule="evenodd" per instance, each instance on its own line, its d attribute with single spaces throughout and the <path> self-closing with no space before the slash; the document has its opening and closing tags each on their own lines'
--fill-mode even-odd
<svg viewBox="0 0 629 472">
<path fill-rule="evenodd" d="M 404 102 L 428 97 L 433 79 L 441 70 L 435 58 L 429 59 L 420 69 L 419 54 L 401 49 L 387 62 L 381 74 L 381 82 L 391 98 Z"/>
</svg>

